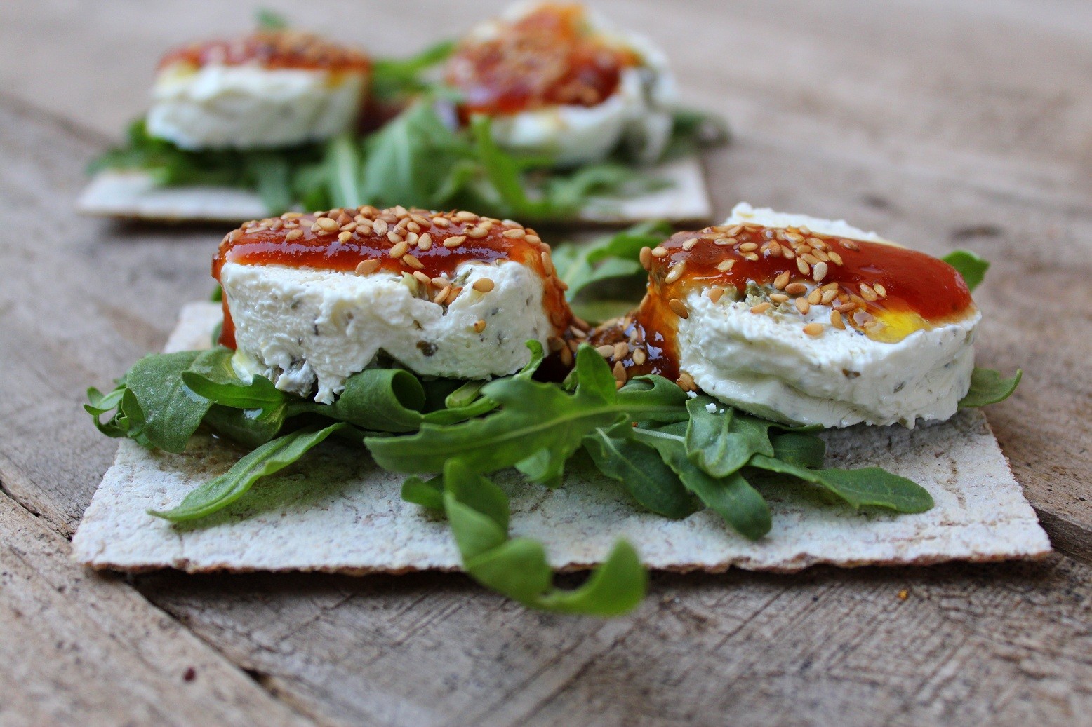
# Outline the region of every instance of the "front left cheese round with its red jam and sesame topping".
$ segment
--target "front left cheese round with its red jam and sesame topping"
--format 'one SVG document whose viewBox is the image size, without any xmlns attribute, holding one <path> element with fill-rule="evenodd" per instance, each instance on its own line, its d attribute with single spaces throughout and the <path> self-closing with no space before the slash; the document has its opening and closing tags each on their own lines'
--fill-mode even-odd
<svg viewBox="0 0 1092 727">
<path fill-rule="evenodd" d="M 236 369 L 321 403 L 376 365 L 513 373 L 530 360 L 526 341 L 558 350 L 571 320 L 534 230 L 471 213 L 361 207 L 256 221 L 225 238 L 214 274 Z"/>
</svg>

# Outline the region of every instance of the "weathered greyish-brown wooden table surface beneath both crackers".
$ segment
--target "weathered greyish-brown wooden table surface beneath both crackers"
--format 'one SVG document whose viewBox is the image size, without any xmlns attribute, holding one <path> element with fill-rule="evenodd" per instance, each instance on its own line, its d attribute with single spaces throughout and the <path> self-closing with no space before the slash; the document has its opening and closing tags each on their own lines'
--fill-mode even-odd
<svg viewBox="0 0 1092 727">
<path fill-rule="evenodd" d="M 1092 4 L 598 3 L 731 119 L 708 159 L 717 214 L 747 200 L 993 261 L 980 362 L 1025 376 L 988 417 L 1057 549 L 658 574 L 613 621 L 530 612 L 460 575 L 126 579 L 69 560 L 116 448 L 83 392 L 207 294 L 224 231 L 70 205 L 158 53 L 248 27 L 251 4 L 0 9 L 0 724 L 1092 724 Z M 261 4 L 377 55 L 500 7 Z"/>
</svg>

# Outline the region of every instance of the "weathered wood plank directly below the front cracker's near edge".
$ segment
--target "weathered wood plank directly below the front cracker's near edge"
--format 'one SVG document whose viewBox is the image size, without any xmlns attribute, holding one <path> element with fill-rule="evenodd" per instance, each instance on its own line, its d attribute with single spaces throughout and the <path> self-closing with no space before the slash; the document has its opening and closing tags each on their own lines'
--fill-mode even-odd
<svg viewBox="0 0 1092 727">
<path fill-rule="evenodd" d="M 345 724 L 1068 725 L 1092 708 L 1090 577 L 1064 558 L 657 575 L 613 622 L 527 612 L 447 575 L 138 583 Z"/>
</svg>

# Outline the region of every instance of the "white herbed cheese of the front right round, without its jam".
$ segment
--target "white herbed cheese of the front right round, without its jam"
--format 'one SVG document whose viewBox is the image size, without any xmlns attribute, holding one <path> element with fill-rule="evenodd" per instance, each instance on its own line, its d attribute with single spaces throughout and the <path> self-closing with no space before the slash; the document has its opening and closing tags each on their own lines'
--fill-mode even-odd
<svg viewBox="0 0 1092 727">
<path fill-rule="evenodd" d="M 887 242 L 843 221 L 787 215 L 737 205 L 725 224 L 806 226 L 815 233 Z M 759 416 L 794 424 L 848 427 L 948 419 L 971 385 L 974 336 L 981 313 L 972 306 L 958 321 L 911 333 L 899 342 L 875 341 L 847 327 L 804 333 L 828 323 L 831 308 L 812 306 L 802 317 L 791 306 L 761 314 L 747 301 L 713 302 L 693 290 L 680 319 L 680 368 L 703 391 Z"/>
</svg>

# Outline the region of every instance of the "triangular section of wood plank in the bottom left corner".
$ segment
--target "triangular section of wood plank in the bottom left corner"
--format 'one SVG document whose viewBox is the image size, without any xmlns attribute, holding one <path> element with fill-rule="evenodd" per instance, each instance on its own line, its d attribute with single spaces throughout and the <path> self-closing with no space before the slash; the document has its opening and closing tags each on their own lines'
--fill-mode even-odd
<svg viewBox="0 0 1092 727">
<path fill-rule="evenodd" d="M 0 493 L 0 723 L 306 725 Z"/>
</svg>

